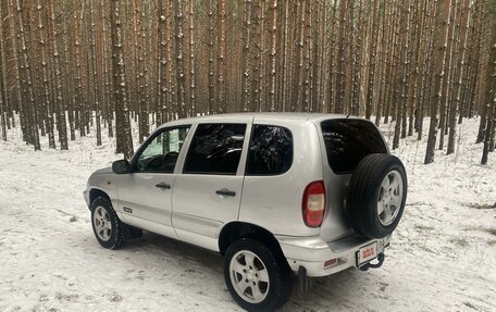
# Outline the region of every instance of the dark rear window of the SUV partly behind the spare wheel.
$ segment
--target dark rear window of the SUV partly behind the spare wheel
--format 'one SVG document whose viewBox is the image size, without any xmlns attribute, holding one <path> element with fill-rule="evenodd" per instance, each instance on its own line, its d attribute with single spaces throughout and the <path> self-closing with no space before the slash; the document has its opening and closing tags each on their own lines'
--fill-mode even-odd
<svg viewBox="0 0 496 312">
<path fill-rule="evenodd" d="M 328 120 L 321 123 L 328 165 L 336 174 L 354 172 L 371 153 L 386 153 L 377 128 L 364 120 Z"/>
</svg>

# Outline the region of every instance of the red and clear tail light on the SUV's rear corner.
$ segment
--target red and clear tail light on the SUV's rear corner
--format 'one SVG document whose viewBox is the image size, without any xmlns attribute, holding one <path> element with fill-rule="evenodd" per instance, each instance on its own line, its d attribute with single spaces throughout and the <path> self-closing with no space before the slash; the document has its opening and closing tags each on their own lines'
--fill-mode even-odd
<svg viewBox="0 0 496 312">
<path fill-rule="evenodd" d="M 305 224 L 308 227 L 322 225 L 325 212 L 325 186 L 322 180 L 312 182 L 307 186 L 301 209 Z"/>
</svg>

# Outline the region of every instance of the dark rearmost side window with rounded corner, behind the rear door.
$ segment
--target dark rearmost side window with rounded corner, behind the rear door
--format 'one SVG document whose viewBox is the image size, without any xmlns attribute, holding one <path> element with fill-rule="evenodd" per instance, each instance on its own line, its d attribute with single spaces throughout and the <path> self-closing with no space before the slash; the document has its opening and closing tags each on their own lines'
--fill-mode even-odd
<svg viewBox="0 0 496 312">
<path fill-rule="evenodd" d="M 253 125 L 246 175 L 278 175 L 293 163 L 293 135 L 285 127 Z"/>
</svg>

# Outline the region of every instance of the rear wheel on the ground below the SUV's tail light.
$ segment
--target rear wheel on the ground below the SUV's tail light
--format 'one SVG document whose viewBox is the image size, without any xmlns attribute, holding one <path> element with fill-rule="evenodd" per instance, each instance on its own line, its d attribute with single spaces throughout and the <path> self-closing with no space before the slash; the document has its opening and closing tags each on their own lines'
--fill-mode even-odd
<svg viewBox="0 0 496 312">
<path fill-rule="evenodd" d="M 247 311 L 275 311 L 289 297 L 290 270 L 264 245 L 241 239 L 227 248 L 224 279 L 231 296 Z"/>
</svg>

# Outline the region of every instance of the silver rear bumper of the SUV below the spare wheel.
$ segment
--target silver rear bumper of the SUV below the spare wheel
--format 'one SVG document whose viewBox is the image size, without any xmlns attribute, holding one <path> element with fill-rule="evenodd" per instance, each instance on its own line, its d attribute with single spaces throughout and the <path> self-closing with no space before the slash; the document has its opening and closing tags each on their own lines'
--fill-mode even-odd
<svg viewBox="0 0 496 312">
<path fill-rule="evenodd" d="M 351 266 L 358 267 L 358 250 L 377 241 L 377 254 L 384 252 L 390 235 L 381 239 L 352 235 L 331 242 L 323 241 L 319 236 L 275 236 L 275 238 L 293 271 L 298 272 L 298 269 L 303 266 L 308 276 L 317 277 L 331 275 Z"/>
</svg>

